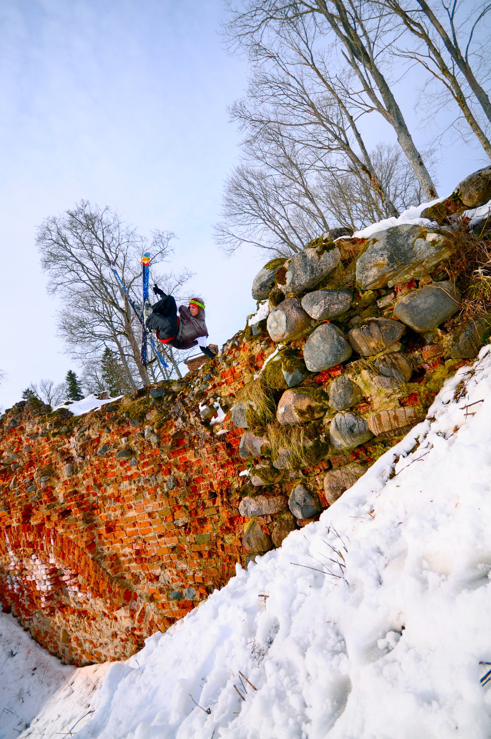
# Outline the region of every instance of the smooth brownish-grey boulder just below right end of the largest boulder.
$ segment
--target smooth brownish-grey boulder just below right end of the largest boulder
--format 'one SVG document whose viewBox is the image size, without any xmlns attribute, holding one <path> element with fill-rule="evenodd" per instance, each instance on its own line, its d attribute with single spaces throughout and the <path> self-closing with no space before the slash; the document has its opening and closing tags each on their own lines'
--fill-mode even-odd
<svg viewBox="0 0 491 739">
<path fill-rule="evenodd" d="M 394 316 L 418 333 L 430 331 L 458 311 L 461 294 L 453 282 L 432 282 L 411 290 L 394 307 Z"/>
</svg>

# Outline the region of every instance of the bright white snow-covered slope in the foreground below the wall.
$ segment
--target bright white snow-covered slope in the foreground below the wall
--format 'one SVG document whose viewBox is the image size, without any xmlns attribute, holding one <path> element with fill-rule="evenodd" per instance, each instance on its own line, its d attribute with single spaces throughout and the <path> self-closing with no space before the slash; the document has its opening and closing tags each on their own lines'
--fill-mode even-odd
<svg viewBox="0 0 491 739">
<path fill-rule="evenodd" d="M 484 347 L 319 522 L 24 735 L 490 737 L 490 389 Z"/>
</svg>

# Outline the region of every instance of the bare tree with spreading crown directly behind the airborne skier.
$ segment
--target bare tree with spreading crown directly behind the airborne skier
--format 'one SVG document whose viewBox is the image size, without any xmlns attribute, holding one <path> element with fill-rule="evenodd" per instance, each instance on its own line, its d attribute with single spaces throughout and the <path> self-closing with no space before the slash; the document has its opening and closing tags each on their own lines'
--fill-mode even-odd
<svg viewBox="0 0 491 739">
<path fill-rule="evenodd" d="M 174 238 L 170 231 L 154 231 L 150 245 L 152 278 L 173 290 L 182 287 L 191 273 L 159 276 L 155 269 L 172 255 Z M 81 200 L 72 210 L 47 218 L 38 228 L 36 242 L 41 266 L 49 274 L 48 292 L 61 298 L 58 331 L 72 358 L 82 365 L 97 363 L 105 347 L 111 347 L 126 386 L 149 384 L 148 371 L 140 365 L 140 323 L 110 267 L 115 262 L 128 290 L 137 287 L 146 239 L 116 211 Z M 177 369 L 172 350 L 163 353 L 172 365 L 170 371 Z"/>
</svg>

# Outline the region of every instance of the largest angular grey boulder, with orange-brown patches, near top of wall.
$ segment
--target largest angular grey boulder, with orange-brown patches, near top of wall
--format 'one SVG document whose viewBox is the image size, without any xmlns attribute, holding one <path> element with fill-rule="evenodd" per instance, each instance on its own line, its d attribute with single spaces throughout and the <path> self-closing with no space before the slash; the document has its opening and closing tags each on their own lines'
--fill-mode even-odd
<svg viewBox="0 0 491 739">
<path fill-rule="evenodd" d="M 430 273 L 454 251 L 456 243 L 446 231 L 428 231 L 409 223 L 377 231 L 356 262 L 356 283 L 362 290 L 376 290 L 409 282 Z"/>
</svg>

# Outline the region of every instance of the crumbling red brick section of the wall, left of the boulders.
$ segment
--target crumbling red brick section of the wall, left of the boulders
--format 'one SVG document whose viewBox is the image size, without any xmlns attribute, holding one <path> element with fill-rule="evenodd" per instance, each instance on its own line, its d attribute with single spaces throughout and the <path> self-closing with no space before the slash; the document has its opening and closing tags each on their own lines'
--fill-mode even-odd
<svg viewBox="0 0 491 739">
<path fill-rule="evenodd" d="M 249 354 L 244 371 L 262 361 Z M 200 400 L 237 380 L 239 367 L 219 365 Z M 164 406 L 156 442 L 143 428 L 159 405 L 138 423 L 118 403 L 75 420 L 14 406 L 0 422 L 1 602 L 64 661 L 131 655 L 245 562 L 240 433 L 204 426 L 189 385 Z M 134 466 L 115 458 L 125 447 Z"/>
</svg>

